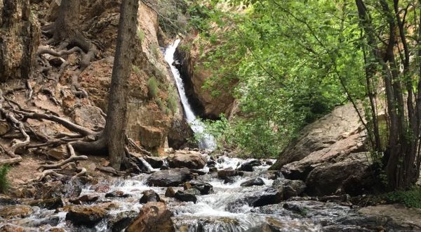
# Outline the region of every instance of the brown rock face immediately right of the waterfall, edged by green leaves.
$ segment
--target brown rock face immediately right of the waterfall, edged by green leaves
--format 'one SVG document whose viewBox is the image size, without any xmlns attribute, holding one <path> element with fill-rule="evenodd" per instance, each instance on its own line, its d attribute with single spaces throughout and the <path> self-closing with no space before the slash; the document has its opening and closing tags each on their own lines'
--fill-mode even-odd
<svg viewBox="0 0 421 232">
<path fill-rule="evenodd" d="M 201 44 L 199 43 L 199 35 L 193 39 L 185 39 L 187 43 L 191 44 L 189 49 L 179 49 L 176 52 L 177 59 L 180 60 L 180 74 L 185 82 L 186 94 L 192 100 L 192 106 L 196 108 L 199 115 L 208 118 L 217 118 L 221 113 L 229 116 L 233 107 L 234 98 L 228 89 L 234 89 L 235 83 L 229 86 L 217 86 L 220 90 L 218 96 L 213 96 L 210 91 L 203 89 L 202 86 L 206 79 L 212 75 L 212 70 L 207 69 L 203 65 L 201 58 Z M 183 42 L 182 42 L 183 43 Z M 206 53 L 211 49 L 211 46 L 205 46 Z"/>
</svg>

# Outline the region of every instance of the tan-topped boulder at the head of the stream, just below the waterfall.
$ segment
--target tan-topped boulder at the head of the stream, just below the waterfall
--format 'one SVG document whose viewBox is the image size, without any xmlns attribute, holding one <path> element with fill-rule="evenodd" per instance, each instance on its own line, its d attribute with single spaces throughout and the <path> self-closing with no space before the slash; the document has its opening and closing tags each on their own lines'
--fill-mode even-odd
<svg viewBox="0 0 421 232">
<path fill-rule="evenodd" d="M 193 150 L 177 150 L 168 156 L 169 167 L 187 167 L 189 169 L 202 169 L 206 165 L 203 156 Z"/>
</svg>

